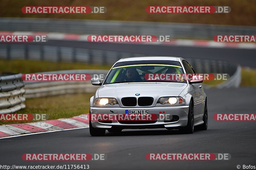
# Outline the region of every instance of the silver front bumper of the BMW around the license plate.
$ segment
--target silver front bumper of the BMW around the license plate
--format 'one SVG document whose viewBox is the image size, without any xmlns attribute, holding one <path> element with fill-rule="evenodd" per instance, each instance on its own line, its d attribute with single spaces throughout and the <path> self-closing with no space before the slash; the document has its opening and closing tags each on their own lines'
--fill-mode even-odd
<svg viewBox="0 0 256 170">
<path fill-rule="evenodd" d="M 158 119 L 154 123 L 120 123 L 118 121 L 112 121 L 112 123 L 103 123 L 98 121 L 92 121 L 93 128 L 122 128 L 122 129 L 148 129 L 148 128 L 173 128 L 185 127 L 188 123 L 188 109 L 189 106 L 164 106 L 164 107 L 91 107 L 91 114 L 125 114 L 125 110 L 148 110 L 149 114 L 156 114 L 159 117 L 160 112 L 164 112 L 165 117 L 167 115 L 179 116 L 178 121 L 164 122 L 163 119 Z"/>
</svg>

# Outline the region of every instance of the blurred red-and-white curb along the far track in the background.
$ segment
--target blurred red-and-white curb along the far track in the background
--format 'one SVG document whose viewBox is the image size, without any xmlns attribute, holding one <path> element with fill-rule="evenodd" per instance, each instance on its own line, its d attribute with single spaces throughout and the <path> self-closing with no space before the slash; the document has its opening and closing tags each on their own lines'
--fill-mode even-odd
<svg viewBox="0 0 256 170">
<path fill-rule="evenodd" d="M 0 35 L 47 35 L 49 40 L 71 40 L 71 41 L 88 41 L 89 34 L 70 34 L 70 33 L 44 33 L 44 32 L 22 32 L 22 31 L 0 31 Z M 93 43 L 93 42 L 92 42 Z M 112 42 L 110 42 L 112 43 Z M 127 43 L 127 42 L 115 42 Z M 132 43 L 132 42 L 130 42 Z M 136 42 L 139 43 L 139 42 Z M 140 44 L 155 45 L 175 45 L 191 47 L 208 47 L 208 48 L 243 48 L 254 49 L 256 43 L 253 42 L 215 42 L 213 40 L 186 40 L 173 39 L 171 42 L 142 42 Z"/>
</svg>

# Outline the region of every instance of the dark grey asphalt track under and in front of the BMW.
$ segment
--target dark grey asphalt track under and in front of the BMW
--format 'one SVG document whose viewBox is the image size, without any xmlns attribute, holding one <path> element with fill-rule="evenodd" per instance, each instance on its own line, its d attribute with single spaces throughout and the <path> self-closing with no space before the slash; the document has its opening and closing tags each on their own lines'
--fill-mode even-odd
<svg viewBox="0 0 256 170">
<path fill-rule="evenodd" d="M 237 169 L 256 165 L 254 121 L 214 121 L 215 113 L 255 113 L 255 87 L 206 89 L 206 131 L 143 129 L 91 137 L 89 129 L 66 130 L 0 140 L 1 165 L 90 165 L 90 169 Z M 24 161 L 23 153 L 104 153 L 106 160 Z M 230 153 L 230 160 L 147 160 L 147 153 Z"/>
</svg>

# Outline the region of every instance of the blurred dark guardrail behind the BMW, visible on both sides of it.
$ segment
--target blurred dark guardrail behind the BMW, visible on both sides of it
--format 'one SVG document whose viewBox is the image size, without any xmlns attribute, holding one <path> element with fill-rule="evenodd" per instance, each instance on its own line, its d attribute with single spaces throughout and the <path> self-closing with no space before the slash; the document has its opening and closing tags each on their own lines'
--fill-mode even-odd
<svg viewBox="0 0 256 170">
<path fill-rule="evenodd" d="M 6 48 L 11 46 L 11 48 Z M 26 48 L 24 50 L 24 48 Z M 10 50 L 9 52 L 7 50 Z M 41 49 L 41 50 L 40 50 Z M 75 51 L 75 52 L 74 52 Z M 90 64 L 112 65 L 120 58 L 148 56 L 147 54 L 124 53 L 108 50 L 96 50 L 86 48 L 65 48 L 39 45 L 11 45 L 0 44 L 0 58 L 6 56 L 6 53 L 11 54 L 9 58 L 4 59 L 31 59 L 43 60 L 52 62 L 81 62 Z M 186 58 L 195 70 L 200 73 L 228 73 L 232 75 L 236 71 L 236 65 L 217 60 L 192 59 Z"/>
</svg>

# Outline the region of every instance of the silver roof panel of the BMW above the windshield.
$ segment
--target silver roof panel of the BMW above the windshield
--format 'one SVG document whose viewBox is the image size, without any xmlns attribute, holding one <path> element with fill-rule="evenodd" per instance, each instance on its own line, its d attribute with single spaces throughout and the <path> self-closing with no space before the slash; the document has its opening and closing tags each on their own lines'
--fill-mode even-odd
<svg viewBox="0 0 256 170">
<path fill-rule="evenodd" d="M 142 60 L 168 60 L 168 61 L 178 61 L 179 57 L 172 57 L 172 56 L 143 56 L 143 57 L 129 57 L 129 58 L 122 58 L 118 62 L 125 62 L 125 61 L 142 61 Z M 118 63 L 117 62 L 117 63 Z"/>
</svg>

